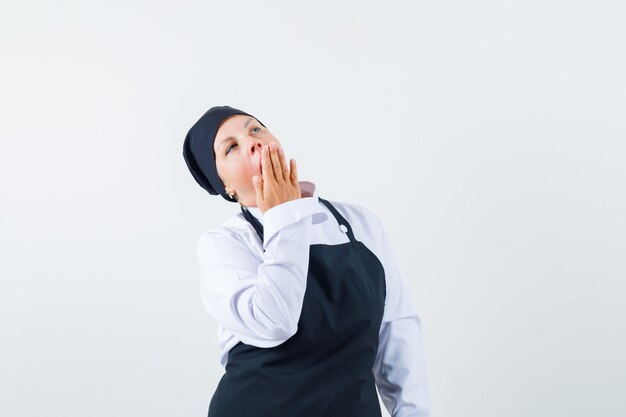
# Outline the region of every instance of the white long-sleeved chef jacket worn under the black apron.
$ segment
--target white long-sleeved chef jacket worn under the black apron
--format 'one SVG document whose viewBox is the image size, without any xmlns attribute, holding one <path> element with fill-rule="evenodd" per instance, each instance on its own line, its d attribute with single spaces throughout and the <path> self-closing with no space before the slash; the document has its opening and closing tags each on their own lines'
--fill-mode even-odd
<svg viewBox="0 0 626 417">
<path fill-rule="evenodd" d="M 263 241 L 241 213 L 198 241 L 202 302 L 218 321 L 224 367 L 240 342 L 238 347 L 273 348 L 292 338 L 307 288 L 309 246 L 350 241 L 347 228 L 319 201 L 315 184 L 300 181 L 300 188 L 302 198 L 264 214 L 248 207 L 263 225 Z M 429 416 L 421 322 L 384 228 L 365 207 L 336 201 L 332 206 L 384 268 L 384 313 L 372 366 L 382 401 L 393 417 Z"/>
</svg>

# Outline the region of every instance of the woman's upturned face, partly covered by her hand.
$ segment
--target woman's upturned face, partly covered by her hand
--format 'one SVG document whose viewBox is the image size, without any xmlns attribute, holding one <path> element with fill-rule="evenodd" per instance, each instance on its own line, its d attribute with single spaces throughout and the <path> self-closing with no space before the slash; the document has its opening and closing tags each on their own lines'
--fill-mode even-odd
<svg viewBox="0 0 626 417">
<path fill-rule="evenodd" d="M 215 166 L 227 192 L 237 194 L 240 204 L 256 207 L 254 175 L 261 176 L 261 150 L 271 142 L 280 145 L 254 117 L 236 114 L 219 127 L 213 151 Z"/>
</svg>

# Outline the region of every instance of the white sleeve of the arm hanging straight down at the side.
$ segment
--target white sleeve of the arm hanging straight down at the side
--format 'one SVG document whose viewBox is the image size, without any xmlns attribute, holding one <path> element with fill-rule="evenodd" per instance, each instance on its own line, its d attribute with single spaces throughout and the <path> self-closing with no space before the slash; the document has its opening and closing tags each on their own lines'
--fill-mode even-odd
<svg viewBox="0 0 626 417">
<path fill-rule="evenodd" d="M 382 245 L 387 297 L 373 368 L 376 385 L 392 417 L 429 417 L 421 320 L 380 222 L 377 241 Z"/>
</svg>

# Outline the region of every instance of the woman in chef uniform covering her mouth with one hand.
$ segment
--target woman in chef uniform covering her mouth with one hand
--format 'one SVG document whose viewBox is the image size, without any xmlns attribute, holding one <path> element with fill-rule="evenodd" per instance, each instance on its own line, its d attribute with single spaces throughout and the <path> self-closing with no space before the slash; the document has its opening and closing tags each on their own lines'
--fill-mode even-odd
<svg viewBox="0 0 626 417">
<path fill-rule="evenodd" d="M 380 220 L 299 181 L 250 114 L 209 109 L 183 155 L 237 213 L 199 239 L 225 367 L 209 417 L 429 416 L 420 318 Z"/>
</svg>

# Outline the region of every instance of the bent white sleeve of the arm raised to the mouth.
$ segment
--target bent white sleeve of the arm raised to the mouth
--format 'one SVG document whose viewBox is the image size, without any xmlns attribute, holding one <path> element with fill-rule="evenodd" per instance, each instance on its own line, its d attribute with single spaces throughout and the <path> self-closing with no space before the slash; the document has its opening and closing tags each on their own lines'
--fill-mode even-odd
<svg viewBox="0 0 626 417">
<path fill-rule="evenodd" d="M 205 232 L 196 255 L 207 312 L 249 345 L 273 347 L 293 336 L 306 290 L 311 227 L 326 218 L 313 197 L 267 210 L 262 259 L 227 228 Z"/>
</svg>

